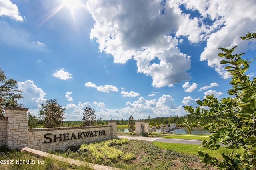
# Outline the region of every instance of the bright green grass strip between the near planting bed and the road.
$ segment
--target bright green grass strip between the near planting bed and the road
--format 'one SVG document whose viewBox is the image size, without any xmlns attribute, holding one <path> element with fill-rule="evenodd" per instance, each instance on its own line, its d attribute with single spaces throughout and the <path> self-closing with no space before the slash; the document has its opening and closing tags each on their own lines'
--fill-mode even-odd
<svg viewBox="0 0 256 170">
<path fill-rule="evenodd" d="M 199 148 L 201 145 L 194 145 L 194 144 L 164 143 L 164 142 L 154 142 L 154 141 L 152 143 L 162 149 L 172 149 L 177 152 L 188 153 L 193 155 L 197 155 L 198 150 L 201 150 L 201 151 L 207 152 L 210 156 L 218 159 L 223 159 L 222 153 L 230 153 L 232 151 L 231 149 L 226 149 L 225 147 L 220 147 L 217 150 L 210 150 L 207 148 Z"/>
</svg>

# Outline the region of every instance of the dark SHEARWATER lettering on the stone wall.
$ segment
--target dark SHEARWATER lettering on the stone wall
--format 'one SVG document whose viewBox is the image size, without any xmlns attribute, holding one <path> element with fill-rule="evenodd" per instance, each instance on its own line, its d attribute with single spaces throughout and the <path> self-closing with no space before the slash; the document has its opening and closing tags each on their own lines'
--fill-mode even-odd
<svg viewBox="0 0 256 170">
<path fill-rule="evenodd" d="M 57 142 L 57 141 L 67 141 L 72 139 L 84 139 L 88 137 L 96 137 L 96 136 L 106 136 L 105 130 L 99 130 L 99 131 L 87 131 L 87 132 L 77 132 L 77 133 L 63 133 L 63 134 L 54 134 L 52 133 L 46 133 L 44 135 L 44 138 L 46 139 L 44 143 L 51 143 Z"/>
</svg>

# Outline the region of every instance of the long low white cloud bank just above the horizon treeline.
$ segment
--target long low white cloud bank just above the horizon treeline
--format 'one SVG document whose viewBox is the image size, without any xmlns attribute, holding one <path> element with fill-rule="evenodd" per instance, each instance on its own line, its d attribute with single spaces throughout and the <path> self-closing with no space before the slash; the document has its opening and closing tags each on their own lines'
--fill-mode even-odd
<svg viewBox="0 0 256 170">
<path fill-rule="evenodd" d="M 92 104 L 89 102 L 76 104 L 68 104 L 66 106 L 67 119 L 82 120 L 83 111 L 86 106 L 95 109 L 96 119 L 101 117 L 103 120 L 110 119 L 125 119 L 133 115 L 134 119 L 145 119 L 150 115 L 151 117 L 169 117 L 170 115 L 186 115 L 182 105 L 175 106 L 174 100 L 170 95 L 162 95 L 158 99 L 146 100 L 140 97 L 133 102 L 126 102 L 126 107 L 120 109 L 108 109 L 104 102 L 94 101 Z"/>
</svg>

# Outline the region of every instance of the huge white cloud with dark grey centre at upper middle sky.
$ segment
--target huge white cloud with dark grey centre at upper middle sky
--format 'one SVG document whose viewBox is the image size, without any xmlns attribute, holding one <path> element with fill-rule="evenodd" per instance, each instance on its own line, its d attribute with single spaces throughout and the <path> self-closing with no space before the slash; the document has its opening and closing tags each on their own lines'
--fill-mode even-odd
<svg viewBox="0 0 256 170">
<path fill-rule="evenodd" d="M 166 6 L 159 1 L 89 0 L 86 6 L 96 21 L 90 38 L 96 39 L 100 51 L 112 55 L 115 63 L 126 63 L 134 56 L 138 72 L 151 76 L 156 87 L 190 79 L 190 57 L 180 53 L 176 38 L 167 36 L 178 29 L 181 15 L 175 10 L 164 10 Z M 150 64 L 155 57 L 160 64 Z"/>
</svg>

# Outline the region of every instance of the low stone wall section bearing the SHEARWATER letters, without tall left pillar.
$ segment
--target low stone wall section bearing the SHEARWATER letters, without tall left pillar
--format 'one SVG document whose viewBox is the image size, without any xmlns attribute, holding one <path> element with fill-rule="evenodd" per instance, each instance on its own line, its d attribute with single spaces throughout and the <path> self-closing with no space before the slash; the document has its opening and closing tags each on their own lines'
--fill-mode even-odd
<svg viewBox="0 0 256 170">
<path fill-rule="evenodd" d="M 117 135 L 114 137 L 111 131 L 111 126 L 29 129 L 30 140 L 28 147 L 44 152 L 66 150 L 71 145 L 76 146 L 82 143 L 91 143 L 95 141 L 117 138 Z M 73 133 L 74 136 L 72 137 Z M 86 134 L 87 137 L 85 136 Z M 45 135 L 48 138 L 45 138 Z"/>
</svg>

